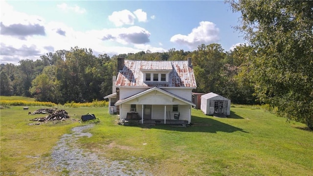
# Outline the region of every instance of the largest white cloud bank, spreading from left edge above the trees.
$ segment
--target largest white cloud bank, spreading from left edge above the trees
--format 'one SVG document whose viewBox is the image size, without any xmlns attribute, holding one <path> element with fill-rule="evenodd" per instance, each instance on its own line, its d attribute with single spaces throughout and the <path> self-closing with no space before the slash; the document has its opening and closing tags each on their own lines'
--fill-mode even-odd
<svg viewBox="0 0 313 176">
<path fill-rule="evenodd" d="M 90 48 L 95 54 L 107 53 L 110 56 L 120 53 L 135 53 L 142 50 L 151 50 L 152 52 L 166 51 L 160 47 L 147 45 L 151 34 L 148 30 L 139 26 L 82 32 L 76 31 L 64 23 L 56 21 L 46 22 L 41 17 L 14 11 L 9 5 L 7 5 L 5 11 L 0 13 L 1 22 L 6 27 L 23 24 L 24 26 L 40 25 L 45 29 L 45 35 L 27 33 L 23 40 L 16 37 L 12 31 L 4 34 L 1 32 L 0 63 L 3 64 L 18 64 L 21 59 L 36 60 L 40 59 L 40 56 L 45 55 L 45 53 L 57 50 L 70 50 L 71 47 L 75 46 Z M 120 46 L 120 44 L 123 44 L 123 46 Z"/>
</svg>

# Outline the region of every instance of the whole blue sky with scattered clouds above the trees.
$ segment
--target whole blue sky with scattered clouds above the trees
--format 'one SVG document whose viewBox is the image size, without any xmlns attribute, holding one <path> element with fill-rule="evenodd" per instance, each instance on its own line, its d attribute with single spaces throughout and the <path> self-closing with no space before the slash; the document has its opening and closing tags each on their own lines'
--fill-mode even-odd
<svg viewBox="0 0 313 176">
<path fill-rule="evenodd" d="M 196 50 L 245 43 L 240 14 L 224 0 L 0 1 L 0 62 L 18 64 L 47 52 L 92 49 L 95 55 Z"/>
</svg>

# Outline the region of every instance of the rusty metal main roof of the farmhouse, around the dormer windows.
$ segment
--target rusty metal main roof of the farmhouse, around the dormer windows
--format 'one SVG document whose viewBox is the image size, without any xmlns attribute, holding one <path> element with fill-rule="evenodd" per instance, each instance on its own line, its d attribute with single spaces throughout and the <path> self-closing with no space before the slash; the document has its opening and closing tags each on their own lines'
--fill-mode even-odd
<svg viewBox="0 0 313 176">
<path fill-rule="evenodd" d="M 169 73 L 169 81 L 144 81 L 144 72 Z M 197 83 L 188 61 L 135 61 L 125 60 L 123 70 L 117 75 L 115 86 L 137 87 L 189 87 Z"/>
</svg>

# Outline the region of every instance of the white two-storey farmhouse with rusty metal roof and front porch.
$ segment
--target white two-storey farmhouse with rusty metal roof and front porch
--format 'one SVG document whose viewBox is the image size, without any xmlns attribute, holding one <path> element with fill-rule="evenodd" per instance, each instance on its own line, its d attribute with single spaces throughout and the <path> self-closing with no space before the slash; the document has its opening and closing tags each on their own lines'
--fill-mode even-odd
<svg viewBox="0 0 313 176">
<path fill-rule="evenodd" d="M 143 123 L 191 123 L 192 90 L 197 88 L 191 58 L 186 61 L 134 61 L 118 58 L 111 111 Z M 114 80 L 113 80 L 114 82 Z"/>
</svg>

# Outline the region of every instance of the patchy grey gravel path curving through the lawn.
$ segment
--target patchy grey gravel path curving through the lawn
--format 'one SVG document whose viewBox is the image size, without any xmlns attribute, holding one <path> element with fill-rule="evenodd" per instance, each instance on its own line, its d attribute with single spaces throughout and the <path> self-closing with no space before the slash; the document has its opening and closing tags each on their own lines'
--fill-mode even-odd
<svg viewBox="0 0 313 176">
<path fill-rule="evenodd" d="M 95 153 L 83 151 L 76 145 L 77 139 L 92 134 L 83 132 L 93 125 L 72 128 L 71 134 L 64 134 L 53 149 L 52 166 L 55 171 L 68 176 L 148 176 L 142 170 L 136 171 L 126 168 L 131 166 L 129 161 L 109 161 L 100 158 Z"/>
</svg>

